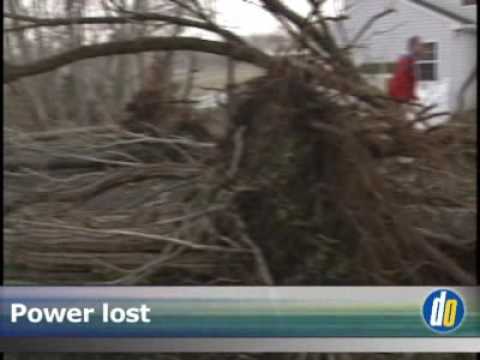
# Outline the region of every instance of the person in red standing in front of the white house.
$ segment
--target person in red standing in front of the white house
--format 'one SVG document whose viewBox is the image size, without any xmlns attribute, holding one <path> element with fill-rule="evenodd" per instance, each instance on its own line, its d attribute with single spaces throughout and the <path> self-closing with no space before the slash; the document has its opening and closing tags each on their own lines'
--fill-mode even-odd
<svg viewBox="0 0 480 360">
<path fill-rule="evenodd" d="M 403 55 L 395 67 L 395 72 L 389 83 L 388 94 L 400 102 L 418 100 L 415 94 L 417 82 L 416 60 L 422 55 L 423 46 L 419 36 L 408 40 L 408 54 Z"/>
</svg>

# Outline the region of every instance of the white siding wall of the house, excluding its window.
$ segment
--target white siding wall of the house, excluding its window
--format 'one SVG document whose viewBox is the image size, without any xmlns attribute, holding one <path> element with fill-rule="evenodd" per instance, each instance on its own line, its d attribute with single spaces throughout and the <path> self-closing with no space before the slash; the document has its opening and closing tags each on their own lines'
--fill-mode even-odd
<svg viewBox="0 0 480 360">
<path fill-rule="evenodd" d="M 404 0 L 347 0 L 346 3 L 350 19 L 345 22 L 345 29 L 350 39 L 372 16 L 389 7 L 397 10 L 376 21 L 362 36 L 357 44 L 360 48 L 353 53 L 356 63 L 394 62 L 406 53 L 407 40 L 414 35 L 424 41 L 437 42 L 438 77 L 442 83 L 449 84 L 449 105 L 453 104 L 458 82 L 465 79 L 471 69 L 473 55 L 470 54 L 476 51 L 476 40 L 466 40 L 465 36 L 452 31 L 458 23 Z M 432 85 L 430 82 L 420 84 L 423 89 Z M 469 99 L 472 96 L 469 94 Z"/>
</svg>

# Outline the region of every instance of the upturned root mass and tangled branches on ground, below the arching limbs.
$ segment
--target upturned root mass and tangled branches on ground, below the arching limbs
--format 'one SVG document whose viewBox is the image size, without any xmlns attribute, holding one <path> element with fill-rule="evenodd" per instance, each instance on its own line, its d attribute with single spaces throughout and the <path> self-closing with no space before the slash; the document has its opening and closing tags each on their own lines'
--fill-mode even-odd
<svg viewBox="0 0 480 360">
<path fill-rule="evenodd" d="M 455 165 L 458 149 L 473 149 L 462 145 L 468 126 L 426 136 L 385 114 L 352 121 L 352 109 L 295 78 L 262 78 L 252 91 L 218 145 L 122 129 L 75 142 L 10 136 L 7 162 L 22 148 L 46 162 L 6 174 L 10 191 L 12 181 L 36 184 L 7 202 L 7 259 L 21 269 L 7 278 L 473 283 L 475 200 L 463 192 L 474 183 Z M 49 168 L 60 156 L 92 167 Z M 466 224 L 472 232 L 459 235 Z"/>
</svg>

